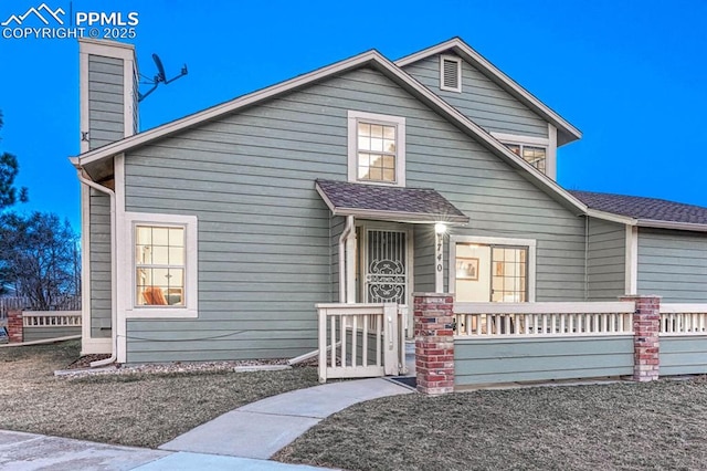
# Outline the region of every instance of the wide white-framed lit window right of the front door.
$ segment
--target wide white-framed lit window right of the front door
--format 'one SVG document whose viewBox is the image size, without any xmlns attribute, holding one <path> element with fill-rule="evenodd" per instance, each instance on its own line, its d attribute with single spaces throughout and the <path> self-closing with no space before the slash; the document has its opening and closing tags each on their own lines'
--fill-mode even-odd
<svg viewBox="0 0 707 471">
<path fill-rule="evenodd" d="M 458 302 L 535 302 L 534 239 L 450 237 L 450 290 Z"/>
</svg>

